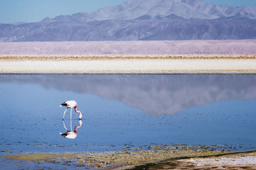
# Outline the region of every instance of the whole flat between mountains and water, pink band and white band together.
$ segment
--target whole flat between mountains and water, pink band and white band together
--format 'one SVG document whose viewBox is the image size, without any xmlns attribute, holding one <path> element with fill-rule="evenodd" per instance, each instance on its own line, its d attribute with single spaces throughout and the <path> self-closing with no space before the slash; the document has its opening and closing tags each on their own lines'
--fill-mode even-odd
<svg viewBox="0 0 256 170">
<path fill-rule="evenodd" d="M 0 73 L 255 73 L 256 40 L 0 43 Z"/>
</svg>

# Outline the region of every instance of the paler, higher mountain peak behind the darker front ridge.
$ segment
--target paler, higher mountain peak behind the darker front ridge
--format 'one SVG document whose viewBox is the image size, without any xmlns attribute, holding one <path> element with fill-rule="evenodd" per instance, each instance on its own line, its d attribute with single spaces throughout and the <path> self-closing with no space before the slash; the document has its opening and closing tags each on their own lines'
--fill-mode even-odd
<svg viewBox="0 0 256 170">
<path fill-rule="evenodd" d="M 177 15 L 182 18 L 213 19 L 241 17 L 256 19 L 256 8 L 207 4 L 202 0 L 129 0 L 117 6 L 101 8 L 92 13 L 59 16 L 52 21 L 79 20 L 134 20 L 136 18 L 166 18 Z"/>
</svg>

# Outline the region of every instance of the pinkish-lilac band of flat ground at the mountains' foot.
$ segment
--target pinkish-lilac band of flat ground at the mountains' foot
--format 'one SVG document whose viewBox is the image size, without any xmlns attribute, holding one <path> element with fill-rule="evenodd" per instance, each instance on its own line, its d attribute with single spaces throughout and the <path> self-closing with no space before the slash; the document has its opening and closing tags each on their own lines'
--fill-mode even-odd
<svg viewBox="0 0 256 170">
<path fill-rule="evenodd" d="M 256 39 L 2 42 L 0 54 L 255 54 Z"/>
</svg>

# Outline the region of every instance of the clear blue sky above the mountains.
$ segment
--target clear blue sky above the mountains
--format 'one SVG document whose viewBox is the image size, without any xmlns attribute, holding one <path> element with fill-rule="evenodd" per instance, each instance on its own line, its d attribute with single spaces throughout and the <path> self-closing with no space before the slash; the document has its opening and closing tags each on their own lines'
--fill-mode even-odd
<svg viewBox="0 0 256 170">
<path fill-rule="evenodd" d="M 45 17 L 95 11 L 127 0 L 0 0 L 0 23 L 38 22 Z M 147 0 L 145 0 L 147 1 Z M 255 6 L 256 0 L 204 0 L 232 6 Z"/>
</svg>

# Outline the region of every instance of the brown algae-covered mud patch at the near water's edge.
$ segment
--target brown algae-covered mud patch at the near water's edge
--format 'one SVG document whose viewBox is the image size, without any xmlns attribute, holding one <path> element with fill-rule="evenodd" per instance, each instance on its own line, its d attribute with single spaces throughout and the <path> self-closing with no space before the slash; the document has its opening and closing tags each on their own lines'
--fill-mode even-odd
<svg viewBox="0 0 256 170">
<path fill-rule="evenodd" d="M 31 160 L 36 162 L 51 162 L 77 167 L 114 168 L 122 166 L 138 166 L 156 163 L 164 160 L 178 160 L 193 157 L 209 157 L 225 154 L 217 150 L 220 146 L 150 146 L 148 150 L 141 148 L 123 148 L 112 152 L 80 152 L 80 153 L 28 153 L 19 155 L 4 155 L 7 159 Z"/>
</svg>

